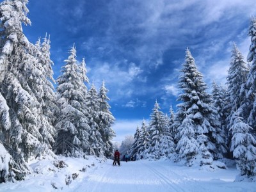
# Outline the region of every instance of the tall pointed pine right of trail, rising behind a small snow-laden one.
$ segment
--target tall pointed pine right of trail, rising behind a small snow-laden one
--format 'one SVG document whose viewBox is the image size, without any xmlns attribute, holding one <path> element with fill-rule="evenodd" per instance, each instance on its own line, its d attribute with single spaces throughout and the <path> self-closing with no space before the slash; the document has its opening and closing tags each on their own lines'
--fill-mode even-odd
<svg viewBox="0 0 256 192">
<path fill-rule="evenodd" d="M 207 84 L 204 83 L 202 74 L 197 70 L 189 49 L 186 50 L 185 63 L 181 72 L 179 88 L 183 93 L 177 99 L 181 103 L 177 104 L 175 126 L 180 125 L 188 115 L 188 118 L 195 124 L 195 139 L 200 134 L 207 136 L 207 149 L 214 159 L 217 159 L 216 127 L 220 126 L 220 122 L 216 120 L 216 109 L 212 106 L 211 95 L 206 92 Z"/>
</svg>

